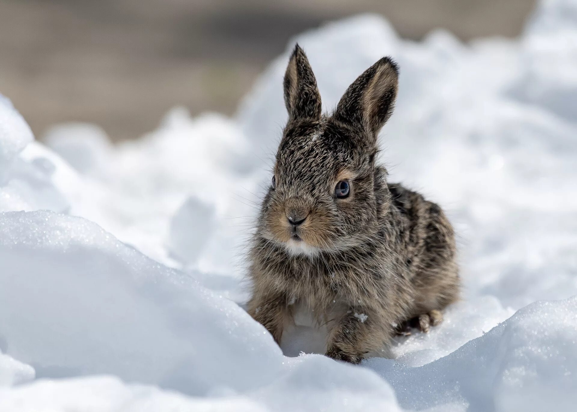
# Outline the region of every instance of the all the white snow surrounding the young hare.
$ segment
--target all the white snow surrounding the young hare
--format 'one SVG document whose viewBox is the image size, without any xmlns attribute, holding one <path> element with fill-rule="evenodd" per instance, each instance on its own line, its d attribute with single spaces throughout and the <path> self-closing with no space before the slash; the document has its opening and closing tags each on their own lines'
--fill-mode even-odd
<svg viewBox="0 0 577 412">
<path fill-rule="evenodd" d="M 381 161 L 454 223 L 462 301 L 359 366 L 300 317 L 283 355 L 242 309 L 294 41 L 235 118 L 174 108 L 119 145 L 83 123 L 32 141 L 2 97 L 0 410 L 574 409 L 576 3 L 541 1 L 515 40 L 410 42 L 377 16 L 294 40 L 326 110 L 399 62 Z"/>
</svg>

